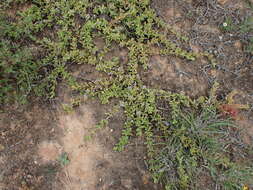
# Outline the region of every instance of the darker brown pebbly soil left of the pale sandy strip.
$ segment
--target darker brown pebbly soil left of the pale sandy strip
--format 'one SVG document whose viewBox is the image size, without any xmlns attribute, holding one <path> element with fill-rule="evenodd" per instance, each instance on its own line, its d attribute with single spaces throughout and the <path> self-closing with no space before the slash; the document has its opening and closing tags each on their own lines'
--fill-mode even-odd
<svg viewBox="0 0 253 190">
<path fill-rule="evenodd" d="M 38 162 L 36 155 L 37 147 L 53 141 L 56 133 L 54 113 L 48 105 L 6 107 L 0 116 L 1 189 L 51 189 L 58 164 Z M 44 153 L 51 159 L 49 152 Z"/>
</svg>

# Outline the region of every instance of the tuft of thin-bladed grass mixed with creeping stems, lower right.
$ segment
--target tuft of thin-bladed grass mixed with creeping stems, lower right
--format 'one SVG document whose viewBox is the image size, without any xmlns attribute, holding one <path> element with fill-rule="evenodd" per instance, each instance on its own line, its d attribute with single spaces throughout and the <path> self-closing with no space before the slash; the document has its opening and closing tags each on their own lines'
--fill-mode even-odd
<svg viewBox="0 0 253 190">
<path fill-rule="evenodd" d="M 163 181 L 166 190 L 252 185 L 252 163 L 245 160 L 250 148 L 233 121 L 222 118 L 208 100 L 190 108 L 172 102 L 168 130 L 158 137 L 157 155 L 150 160 L 155 180 Z"/>
</svg>

